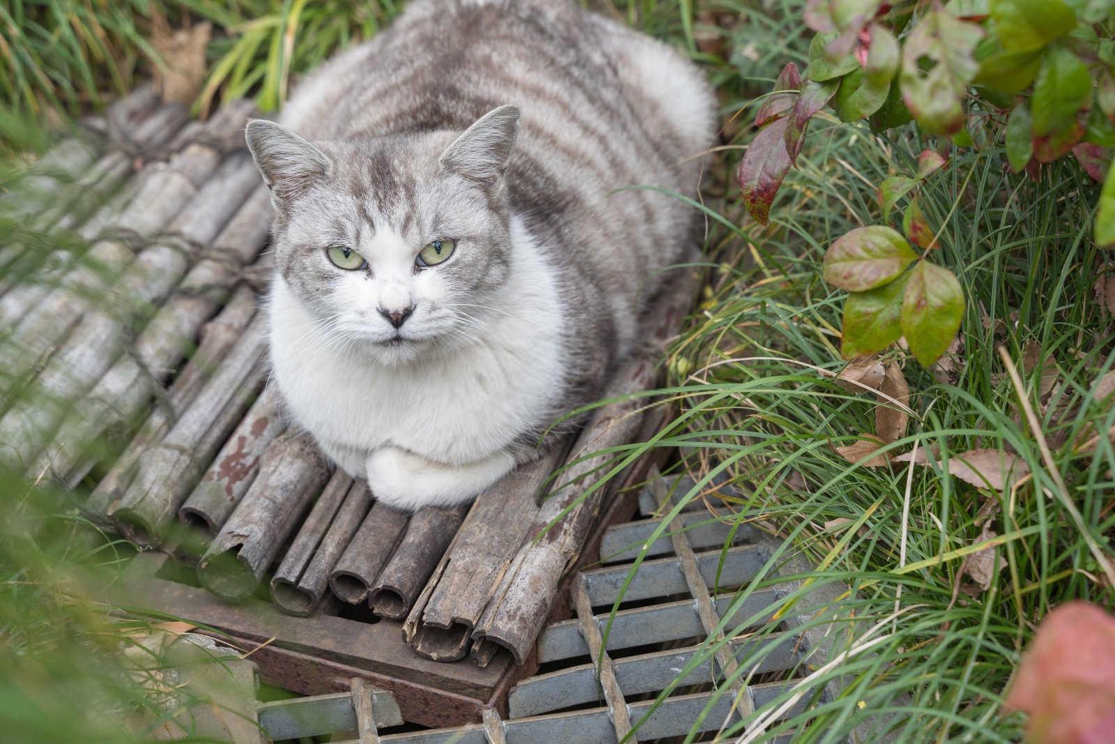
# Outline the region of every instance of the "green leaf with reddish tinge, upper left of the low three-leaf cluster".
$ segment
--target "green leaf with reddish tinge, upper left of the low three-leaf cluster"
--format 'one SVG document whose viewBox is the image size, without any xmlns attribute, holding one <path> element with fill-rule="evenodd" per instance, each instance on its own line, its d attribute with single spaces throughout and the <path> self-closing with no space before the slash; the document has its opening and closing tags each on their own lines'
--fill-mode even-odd
<svg viewBox="0 0 1115 744">
<path fill-rule="evenodd" d="M 891 281 L 917 258 L 896 230 L 884 225 L 856 228 L 825 252 L 824 278 L 834 287 L 862 292 Z"/>
</svg>

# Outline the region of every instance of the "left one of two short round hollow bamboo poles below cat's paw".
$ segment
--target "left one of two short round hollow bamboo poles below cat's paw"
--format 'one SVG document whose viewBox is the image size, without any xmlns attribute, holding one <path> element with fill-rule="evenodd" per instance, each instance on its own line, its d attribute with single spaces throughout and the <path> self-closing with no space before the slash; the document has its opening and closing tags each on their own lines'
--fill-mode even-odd
<svg viewBox="0 0 1115 744">
<path fill-rule="evenodd" d="M 406 514 L 378 501 L 372 504 L 352 542 L 329 574 L 329 587 L 333 593 L 350 605 L 367 599 L 406 528 Z"/>
</svg>

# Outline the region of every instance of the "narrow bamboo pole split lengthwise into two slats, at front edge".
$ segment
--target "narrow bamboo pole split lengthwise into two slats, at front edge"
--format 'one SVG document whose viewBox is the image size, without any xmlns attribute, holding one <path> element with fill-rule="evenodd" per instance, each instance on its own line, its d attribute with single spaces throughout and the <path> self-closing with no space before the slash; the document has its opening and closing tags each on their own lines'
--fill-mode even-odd
<svg viewBox="0 0 1115 744">
<path fill-rule="evenodd" d="M 271 597 L 283 611 L 313 613 L 329 572 L 371 505 L 366 483 L 336 471 L 271 579 Z"/>
</svg>

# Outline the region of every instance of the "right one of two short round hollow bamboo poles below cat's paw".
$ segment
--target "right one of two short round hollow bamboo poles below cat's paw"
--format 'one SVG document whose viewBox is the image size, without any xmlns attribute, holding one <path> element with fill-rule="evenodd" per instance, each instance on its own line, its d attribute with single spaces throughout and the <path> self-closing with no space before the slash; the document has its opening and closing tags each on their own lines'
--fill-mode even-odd
<svg viewBox="0 0 1115 744">
<path fill-rule="evenodd" d="M 467 504 L 423 506 L 410 515 L 406 534 L 368 592 L 376 615 L 396 620 L 407 616 L 467 510 Z"/>
</svg>

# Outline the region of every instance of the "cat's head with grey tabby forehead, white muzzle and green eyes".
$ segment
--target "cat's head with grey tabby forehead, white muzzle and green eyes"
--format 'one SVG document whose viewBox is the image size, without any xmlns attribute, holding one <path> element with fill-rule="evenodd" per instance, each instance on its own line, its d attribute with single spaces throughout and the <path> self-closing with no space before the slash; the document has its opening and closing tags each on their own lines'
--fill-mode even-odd
<svg viewBox="0 0 1115 744">
<path fill-rule="evenodd" d="M 248 146 L 275 209 L 275 265 L 309 347 L 403 364 L 483 335 L 510 265 L 505 171 L 518 109 L 463 134 L 310 143 L 265 120 Z"/>
</svg>

